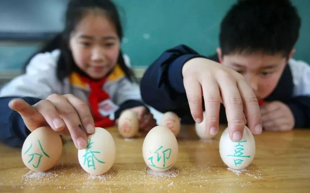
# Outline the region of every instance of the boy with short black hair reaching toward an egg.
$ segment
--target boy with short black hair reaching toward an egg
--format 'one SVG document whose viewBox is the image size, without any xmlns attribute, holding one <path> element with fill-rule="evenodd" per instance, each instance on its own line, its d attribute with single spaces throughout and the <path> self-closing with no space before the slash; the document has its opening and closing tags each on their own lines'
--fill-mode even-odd
<svg viewBox="0 0 310 193">
<path fill-rule="evenodd" d="M 200 123 L 205 106 L 206 132 L 228 121 L 233 141 L 246 122 L 254 134 L 310 127 L 310 66 L 291 59 L 299 27 L 288 0 L 238 1 L 221 23 L 217 56 L 185 45 L 167 50 L 145 72 L 142 98 L 183 123 Z"/>
</svg>

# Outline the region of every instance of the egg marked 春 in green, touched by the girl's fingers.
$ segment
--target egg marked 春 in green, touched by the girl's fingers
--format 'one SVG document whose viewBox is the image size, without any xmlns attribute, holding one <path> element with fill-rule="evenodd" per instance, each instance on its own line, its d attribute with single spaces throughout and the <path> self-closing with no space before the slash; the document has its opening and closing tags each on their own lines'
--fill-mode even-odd
<svg viewBox="0 0 310 193">
<path fill-rule="evenodd" d="M 95 133 L 88 135 L 87 147 L 78 150 L 80 165 L 92 175 L 107 172 L 112 167 L 115 156 L 116 150 L 112 135 L 100 127 L 96 127 Z"/>
</svg>

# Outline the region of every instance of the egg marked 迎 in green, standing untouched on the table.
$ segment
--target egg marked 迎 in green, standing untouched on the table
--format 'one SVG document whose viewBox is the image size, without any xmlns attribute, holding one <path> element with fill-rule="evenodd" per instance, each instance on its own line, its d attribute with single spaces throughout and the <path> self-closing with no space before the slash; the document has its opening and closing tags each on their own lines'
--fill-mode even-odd
<svg viewBox="0 0 310 193">
<path fill-rule="evenodd" d="M 170 169 L 178 157 L 178 142 L 170 129 L 156 126 L 144 138 L 142 155 L 146 165 L 155 172 Z"/>
</svg>

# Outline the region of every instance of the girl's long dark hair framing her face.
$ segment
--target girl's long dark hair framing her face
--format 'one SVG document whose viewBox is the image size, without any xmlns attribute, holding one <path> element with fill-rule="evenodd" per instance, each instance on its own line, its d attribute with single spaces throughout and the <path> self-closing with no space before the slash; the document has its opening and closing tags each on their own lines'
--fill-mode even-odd
<svg viewBox="0 0 310 193">
<path fill-rule="evenodd" d="M 74 63 L 72 53 L 69 50 L 69 38 L 70 33 L 74 30 L 75 26 L 82 19 L 83 15 L 90 9 L 100 9 L 104 12 L 110 21 L 115 25 L 117 36 L 121 40 L 123 37 L 122 26 L 120 18 L 116 9 L 116 6 L 110 0 L 70 0 L 67 6 L 65 14 L 65 28 L 64 30 L 57 34 L 53 39 L 47 42 L 38 53 L 51 52 L 55 49 L 60 49 L 60 56 L 57 62 L 56 76 L 60 81 L 63 81 L 65 77 L 68 77 L 71 72 L 78 71 L 85 75 Z M 33 55 L 33 56 L 34 56 Z M 28 61 L 24 64 L 23 70 L 25 71 L 26 66 L 29 64 L 31 56 Z M 117 63 L 125 72 L 126 77 L 130 81 L 135 81 L 133 71 L 128 68 L 124 62 L 122 51 L 120 50 Z"/>
</svg>

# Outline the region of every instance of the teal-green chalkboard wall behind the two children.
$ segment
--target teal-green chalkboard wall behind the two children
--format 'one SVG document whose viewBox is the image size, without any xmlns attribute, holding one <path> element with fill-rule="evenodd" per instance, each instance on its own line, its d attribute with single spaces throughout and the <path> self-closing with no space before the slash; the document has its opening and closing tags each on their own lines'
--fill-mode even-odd
<svg viewBox="0 0 310 193">
<path fill-rule="evenodd" d="M 0 71 L 20 70 L 43 40 L 63 28 L 68 0 L 0 1 Z M 236 0 L 114 0 L 124 28 L 122 50 L 134 67 L 148 66 L 178 44 L 211 55 L 219 25 Z M 295 59 L 310 63 L 310 1 L 292 0 L 302 18 Z"/>
</svg>

